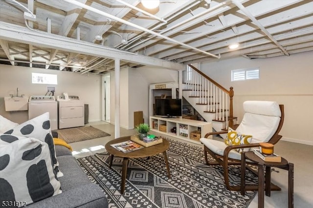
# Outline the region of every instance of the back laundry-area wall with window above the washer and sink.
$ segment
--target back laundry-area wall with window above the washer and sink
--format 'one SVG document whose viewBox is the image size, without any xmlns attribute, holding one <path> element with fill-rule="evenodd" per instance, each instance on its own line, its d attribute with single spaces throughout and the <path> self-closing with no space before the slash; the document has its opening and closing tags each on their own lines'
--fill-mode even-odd
<svg viewBox="0 0 313 208">
<path fill-rule="evenodd" d="M 31 73 L 56 74 L 58 84 L 32 84 Z M 30 68 L 0 64 L 0 114 L 16 123 L 28 120 L 28 111 L 9 111 L 4 108 L 4 97 L 16 94 L 45 95 L 47 86 L 55 86 L 55 98 L 67 92 L 78 95 L 85 104 L 89 104 L 89 122 L 101 120 L 101 76 L 73 73 L 51 69 Z"/>
</svg>

